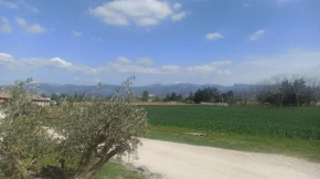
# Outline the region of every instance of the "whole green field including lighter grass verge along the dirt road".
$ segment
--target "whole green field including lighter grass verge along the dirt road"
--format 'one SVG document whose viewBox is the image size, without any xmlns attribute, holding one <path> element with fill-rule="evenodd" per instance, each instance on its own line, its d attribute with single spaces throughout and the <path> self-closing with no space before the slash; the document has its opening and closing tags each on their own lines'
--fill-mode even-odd
<svg viewBox="0 0 320 179">
<path fill-rule="evenodd" d="M 143 106 L 148 138 L 276 152 L 320 161 L 320 110 L 294 107 Z M 205 137 L 185 135 L 205 133 Z"/>
</svg>

